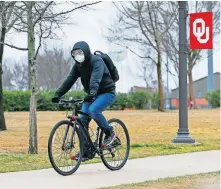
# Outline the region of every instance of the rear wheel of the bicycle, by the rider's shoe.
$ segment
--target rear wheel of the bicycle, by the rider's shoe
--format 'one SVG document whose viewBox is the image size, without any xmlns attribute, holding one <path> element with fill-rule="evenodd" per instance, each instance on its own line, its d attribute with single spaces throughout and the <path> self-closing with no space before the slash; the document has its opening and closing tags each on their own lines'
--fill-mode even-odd
<svg viewBox="0 0 221 189">
<path fill-rule="evenodd" d="M 99 147 L 101 150 L 101 160 L 103 164 L 110 170 L 119 170 L 127 162 L 130 152 L 130 137 L 125 124 L 119 119 L 110 119 L 109 125 L 114 128 L 117 135 L 116 140 L 110 147 L 102 149 L 104 140 L 104 132 L 102 131 L 99 138 Z"/>
</svg>

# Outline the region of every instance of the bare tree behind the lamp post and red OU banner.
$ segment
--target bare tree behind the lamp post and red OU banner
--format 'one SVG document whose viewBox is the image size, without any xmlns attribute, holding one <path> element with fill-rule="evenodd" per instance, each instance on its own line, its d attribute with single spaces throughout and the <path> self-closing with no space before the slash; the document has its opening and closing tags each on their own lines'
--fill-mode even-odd
<svg viewBox="0 0 221 189">
<path fill-rule="evenodd" d="M 177 2 L 170 2 L 172 9 L 171 14 L 173 12 L 178 11 L 178 4 Z M 213 36 L 220 33 L 220 2 L 200 2 L 200 1 L 194 1 L 189 2 L 189 12 L 203 12 L 207 10 L 213 11 Z M 175 72 L 177 74 L 177 77 L 179 77 L 179 49 L 178 49 L 178 16 L 176 15 L 176 19 L 172 27 L 168 30 L 163 44 L 164 44 L 164 52 L 168 55 L 170 61 L 174 65 Z M 188 39 L 189 41 L 189 39 Z M 192 71 L 194 66 L 199 63 L 201 59 L 201 53 L 202 50 L 191 50 L 188 46 L 188 79 L 189 79 L 189 99 L 192 101 L 195 101 L 195 95 L 193 91 L 193 77 L 192 77 Z M 194 103 L 195 105 L 196 103 Z"/>
</svg>

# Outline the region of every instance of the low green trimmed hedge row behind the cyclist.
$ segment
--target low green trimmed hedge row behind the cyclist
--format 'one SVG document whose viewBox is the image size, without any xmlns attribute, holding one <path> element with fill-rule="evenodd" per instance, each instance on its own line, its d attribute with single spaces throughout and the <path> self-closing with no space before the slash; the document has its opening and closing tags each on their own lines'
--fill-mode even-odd
<svg viewBox="0 0 221 189">
<path fill-rule="evenodd" d="M 55 90 L 42 90 L 39 93 L 37 101 L 38 111 L 56 111 L 64 110 L 57 104 L 51 102 Z M 3 91 L 4 95 L 4 110 L 5 111 L 29 111 L 30 91 Z M 64 95 L 64 98 L 73 99 L 84 98 L 86 93 L 84 91 L 70 91 Z M 150 96 L 146 92 L 135 92 L 132 94 L 118 93 L 116 101 L 108 109 L 109 110 L 124 110 L 125 108 L 136 107 L 136 109 L 143 109 L 146 107 L 148 101 L 152 99 L 154 108 L 158 106 L 158 95 L 155 93 Z"/>
</svg>

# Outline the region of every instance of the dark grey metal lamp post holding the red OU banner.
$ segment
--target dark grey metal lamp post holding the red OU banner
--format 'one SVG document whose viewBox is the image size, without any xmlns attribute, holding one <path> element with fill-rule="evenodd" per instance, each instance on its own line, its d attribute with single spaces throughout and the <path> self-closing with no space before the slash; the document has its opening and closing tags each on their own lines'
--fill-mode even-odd
<svg viewBox="0 0 221 189">
<path fill-rule="evenodd" d="M 187 109 L 187 1 L 179 1 L 179 129 L 173 143 L 195 143 L 189 135 Z"/>
</svg>

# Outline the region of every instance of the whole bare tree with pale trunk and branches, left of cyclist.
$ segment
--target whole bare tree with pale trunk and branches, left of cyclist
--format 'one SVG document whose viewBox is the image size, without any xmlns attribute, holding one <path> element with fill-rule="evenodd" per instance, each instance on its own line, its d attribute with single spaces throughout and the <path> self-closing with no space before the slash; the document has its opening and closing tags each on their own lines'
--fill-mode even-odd
<svg viewBox="0 0 221 189">
<path fill-rule="evenodd" d="M 61 10 L 58 6 L 63 2 L 53 1 L 26 1 L 20 2 L 19 8 L 24 10 L 24 14 L 18 16 L 19 23 L 13 28 L 19 32 L 25 32 L 28 35 L 28 66 L 29 66 L 29 89 L 31 90 L 30 116 L 29 116 L 29 150 L 31 154 L 38 153 L 37 143 L 37 119 L 36 104 L 39 89 L 37 88 L 37 64 L 36 58 L 42 40 L 56 37 L 55 30 L 61 28 L 61 25 L 67 24 L 68 13 L 75 10 L 87 9 L 89 5 L 99 2 L 76 3 L 70 2 L 68 10 Z M 36 48 L 36 36 L 38 36 L 38 46 Z M 6 44 L 6 43 L 4 43 Z M 8 44 L 6 44 L 8 45 Z M 10 46 L 10 45 L 8 45 Z M 12 47 L 12 45 L 11 45 Z M 21 48 L 20 48 L 21 49 Z"/>
</svg>

